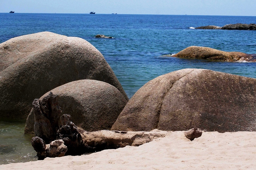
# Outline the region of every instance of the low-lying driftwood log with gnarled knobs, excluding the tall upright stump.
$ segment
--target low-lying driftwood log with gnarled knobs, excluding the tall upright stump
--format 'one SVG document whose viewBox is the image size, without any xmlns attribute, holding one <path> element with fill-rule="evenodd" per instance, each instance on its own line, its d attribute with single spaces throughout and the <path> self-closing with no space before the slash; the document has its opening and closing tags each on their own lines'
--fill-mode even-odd
<svg viewBox="0 0 256 170">
<path fill-rule="evenodd" d="M 32 146 L 37 151 L 38 159 L 46 157 L 60 157 L 64 155 L 81 155 L 101 151 L 104 149 L 117 149 L 125 146 L 139 146 L 152 141 L 155 138 L 165 137 L 168 132 L 126 132 L 101 130 L 95 132 L 83 131 L 68 122 L 61 126 L 57 132 L 55 141 L 50 144 L 39 137 L 32 138 Z"/>
</svg>

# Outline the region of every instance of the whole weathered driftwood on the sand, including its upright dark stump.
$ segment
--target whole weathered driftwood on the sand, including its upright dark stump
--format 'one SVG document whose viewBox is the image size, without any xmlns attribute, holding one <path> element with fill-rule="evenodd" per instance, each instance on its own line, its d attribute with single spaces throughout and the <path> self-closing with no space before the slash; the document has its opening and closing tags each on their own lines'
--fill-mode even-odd
<svg viewBox="0 0 256 170">
<path fill-rule="evenodd" d="M 127 145 L 139 146 L 168 134 L 164 131 L 84 131 L 71 121 L 70 115 L 62 115 L 58 96 L 53 93 L 49 93 L 42 101 L 35 99 L 33 108 L 36 137 L 32 138 L 31 144 L 37 152 L 38 159 L 81 155 Z"/>
</svg>

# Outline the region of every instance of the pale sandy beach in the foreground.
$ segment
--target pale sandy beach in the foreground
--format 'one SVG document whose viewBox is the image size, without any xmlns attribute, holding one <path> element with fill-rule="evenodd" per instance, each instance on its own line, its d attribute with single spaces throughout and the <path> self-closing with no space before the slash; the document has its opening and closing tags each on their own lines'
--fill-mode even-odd
<svg viewBox="0 0 256 170">
<path fill-rule="evenodd" d="M 170 132 L 164 138 L 138 147 L 126 146 L 90 155 L 0 165 L 0 169 L 256 169 L 256 132 L 203 132 L 194 141 L 188 140 L 181 131 Z"/>
</svg>

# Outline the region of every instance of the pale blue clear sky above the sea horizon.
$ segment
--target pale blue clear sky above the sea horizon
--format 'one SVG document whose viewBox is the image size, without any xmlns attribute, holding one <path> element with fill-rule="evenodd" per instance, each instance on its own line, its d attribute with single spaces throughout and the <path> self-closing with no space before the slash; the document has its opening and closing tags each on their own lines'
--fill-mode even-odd
<svg viewBox="0 0 256 170">
<path fill-rule="evenodd" d="M 256 0 L 0 0 L 0 13 L 256 16 Z"/>
</svg>

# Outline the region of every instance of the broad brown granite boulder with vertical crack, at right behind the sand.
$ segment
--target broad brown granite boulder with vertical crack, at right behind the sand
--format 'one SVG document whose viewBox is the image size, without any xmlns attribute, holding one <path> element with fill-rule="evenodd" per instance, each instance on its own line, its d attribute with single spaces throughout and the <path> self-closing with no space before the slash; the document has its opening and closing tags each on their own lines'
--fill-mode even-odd
<svg viewBox="0 0 256 170">
<path fill-rule="evenodd" d="M 256 79 L 183 69 L 141 87 L 111 130 L 256 131 Z"/>
</svg>

